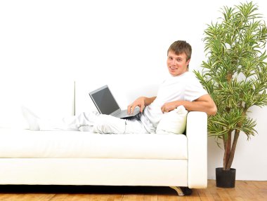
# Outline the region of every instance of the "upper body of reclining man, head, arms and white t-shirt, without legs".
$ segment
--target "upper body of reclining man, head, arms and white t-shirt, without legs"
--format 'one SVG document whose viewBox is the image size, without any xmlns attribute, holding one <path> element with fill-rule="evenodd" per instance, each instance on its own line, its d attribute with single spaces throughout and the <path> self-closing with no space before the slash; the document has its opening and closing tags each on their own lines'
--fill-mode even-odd
<svg viewBox="0 0 267 201">
<path fill-rule="evenodd" d="M 195 74 L 188 71 L 192 48 L 186 41 L 175 41 L 168 50 L 167 68 L 170 76 L 159 87 L 157 97 L 139 97 L 128 106 L 131 113 L 139 106 L 143 116 L 143 125 L 147 130 L 154 131 L 164 112 L 169 112 L 183 105 L 188 111 L 204 111 L 215 115 L 217 108 L 202 88 Z"/>
</svg>

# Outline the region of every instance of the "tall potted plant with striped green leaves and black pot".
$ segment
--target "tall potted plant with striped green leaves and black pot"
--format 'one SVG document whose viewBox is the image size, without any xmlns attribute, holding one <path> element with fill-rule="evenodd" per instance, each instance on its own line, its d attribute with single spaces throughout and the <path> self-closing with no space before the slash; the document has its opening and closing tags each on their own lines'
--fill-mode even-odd
<svg viewBox="0 0 267 201">
<path fill-rule="evenodd" d="M 208 120 L 209 135 L 219 146 L 223 141 L 223 168 L 216 168 L 216 174 L 226 175 L 216 175 L 218 187 L 235 187 L 231 165 L 237 139 L 240 132 L 248 139 L 256 133 L 256 121 L 247 113 L 252 106 L 267 105 L 267 29 L 257 12 L 258 6 L 252 2 L 225 6 L 218 22 L 211 22 L 204 30 L 207 61 L 195 74 L 218 108 L 216 116 Z M 233 181 L 228 176 L 233 176 Z"/>
</svg>

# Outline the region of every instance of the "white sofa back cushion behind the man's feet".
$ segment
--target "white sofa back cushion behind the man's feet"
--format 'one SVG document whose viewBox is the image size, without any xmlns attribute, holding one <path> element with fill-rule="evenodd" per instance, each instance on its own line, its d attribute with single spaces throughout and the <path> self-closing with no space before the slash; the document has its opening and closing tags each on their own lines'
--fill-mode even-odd
<svg viewBox="0 0 267 201">
<path fill-rule="evenodd" d="M 74 81 L 9 78 L 0 81 L 0 92 L 0 127 L 27 129 L 21 106 L 41 118 L 74 114 Z"/>
</svg>

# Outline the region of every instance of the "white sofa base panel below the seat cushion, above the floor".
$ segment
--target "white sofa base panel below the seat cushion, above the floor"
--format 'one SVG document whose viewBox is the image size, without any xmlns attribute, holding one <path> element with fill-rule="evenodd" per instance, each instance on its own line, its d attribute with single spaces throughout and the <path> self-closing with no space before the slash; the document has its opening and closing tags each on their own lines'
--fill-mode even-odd
<svg viewBox="0 0 267 201">
<path fill-rule="evenodd" d="M 187 160 L 1 158 L 0 184 L 188 186 Z"/>
</svg>

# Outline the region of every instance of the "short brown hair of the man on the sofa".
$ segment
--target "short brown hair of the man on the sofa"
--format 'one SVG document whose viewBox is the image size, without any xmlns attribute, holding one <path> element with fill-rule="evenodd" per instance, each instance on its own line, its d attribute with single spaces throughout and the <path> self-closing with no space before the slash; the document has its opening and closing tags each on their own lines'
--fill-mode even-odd
<svg viewBox="0 0 267 201">
<path fill-rule="evenodd" d="M 185 53 L 186 61 L 190 60 L 191 58 L 192 48 L 189 43 L 186 43 L 186 41 L 175 41 L 171 44 L 171 46 L 169 46 L 167 54 L 170 50 L 174 51 L 176 55 L 181 55 Z"/>
</svg>

